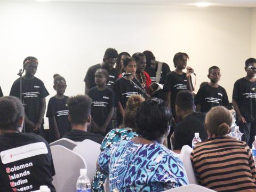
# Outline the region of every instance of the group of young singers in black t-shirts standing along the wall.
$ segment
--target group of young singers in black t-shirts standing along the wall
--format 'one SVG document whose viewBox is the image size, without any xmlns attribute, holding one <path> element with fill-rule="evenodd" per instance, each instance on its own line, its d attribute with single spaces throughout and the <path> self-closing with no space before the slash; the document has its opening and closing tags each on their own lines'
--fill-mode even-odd
<svg viewBox="0 0 256 192">
<path fill-rule="evenodd" d="M 170 71 L 166 63 L 156 61 L 151 51 L 134 53 L 130 57 L 127 52 L 118 55 L 115 49 L 107 49 L 103 62 L 90 67 L 84 78 L 85 93 L 92 98 L 90 131 L 106 135 L 108 131 L 121 125 L 126 101 L 132 94 L 165 99 L 171 107 L 174 119 L 177 120 L 175 116 L 177 93 L 181 90 L 191 92 L 194 90 L 191 79 L 194 71 L 187 66 L 188 59 L 186 53 L 175 54 L 173 58 L 175 69 Z M 114 68 L 115 63 L 116 68 Z M 34 76 L 37 65 L 38 60 L 34 57 L 28 57 L 23 61 L 23 69 L 26 73 L 22 76 L 22 102 L 26 113 L 25 131 L 44 136 L 45 97 L 49 93 L 44 83 Z M 187 69 L 186 73 L 183 73 L 184 69 Z M 244 140 L 252 143 L 256 134 L 256 60 L 254 58 L 246 60 L 245 71 L 246 77 L 238 79 L 234 85 L 233 106 L 238 125 L 245 134 Z M 195 97 L 196 110 L 204 113 L 214 106 L 229 105 L 226 90 L 218 85 L 221 77 L 220 68 L 210 67 L 207 77 L 210 82 L 200 87 Z M 50 141 L 60 139 L 71 129 L 68 121 L 68 97 L 64 95 L 66 87 L 65 78 L 58 74 L 54 75 L 53 88 L 57 94 L 49 100 L 46 113 L 51 130 Z M 0 96 L 1 94 L 0 89 Z M 13 83 L 10 95 L 20 97 L 20 79 Z M 117 120 L 117 124 L 112 120 Z"/>
</svg>

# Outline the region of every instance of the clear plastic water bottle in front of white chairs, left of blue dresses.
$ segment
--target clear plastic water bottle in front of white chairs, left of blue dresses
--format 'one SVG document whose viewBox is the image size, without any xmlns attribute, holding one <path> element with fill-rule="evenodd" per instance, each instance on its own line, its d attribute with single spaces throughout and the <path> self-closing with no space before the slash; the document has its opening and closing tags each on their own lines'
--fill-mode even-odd
<svg viewBox="0 0 256 192">
<path fill-rule="evenodd" d="M 87 170 L 80 170 L 80 177 L 76 182 L 76 192 L 91 192 L 90 179 L 87 177 Z"/>
</svg>

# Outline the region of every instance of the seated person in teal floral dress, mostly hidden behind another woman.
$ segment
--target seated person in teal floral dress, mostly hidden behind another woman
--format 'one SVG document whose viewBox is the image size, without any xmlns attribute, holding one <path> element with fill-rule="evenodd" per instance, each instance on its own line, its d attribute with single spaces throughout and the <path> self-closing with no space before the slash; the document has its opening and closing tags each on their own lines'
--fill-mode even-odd
<svg viewBox="0 0 256 192">
<path fill-rule="evenodd" d="M 109 149 L 115 143 L 121 140 L 130 140 L 134 137 L 137 137 L 138 134 L 135 132 L 135 115 L 137 108 L 141 103 L 145 101 L 140 95 L 132 95 L 127 103 L 124 110 L 124 124 L 121 129 L 111 130 L 101 144 L 101 151 Z M 98 169 L 96 169 L 93 180 L 93 191 L 104 191 L 103 183 L 105 183 L 107 174 L 103 174 Z"/>
</svg>

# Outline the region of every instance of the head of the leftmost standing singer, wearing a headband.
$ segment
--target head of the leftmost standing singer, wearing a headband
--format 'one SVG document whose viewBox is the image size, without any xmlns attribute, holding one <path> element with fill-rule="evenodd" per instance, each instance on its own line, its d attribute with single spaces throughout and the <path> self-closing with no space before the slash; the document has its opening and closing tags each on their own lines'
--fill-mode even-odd
<svg viewBox="0 0 256 192">
<path fill-rule="evenodd" d="M 37 71 L 38 60 L 35 57 L 27 57 L 23 60 L 23 70 L 26 71 L 27 77 L 34 77 Z"/>
</svg>

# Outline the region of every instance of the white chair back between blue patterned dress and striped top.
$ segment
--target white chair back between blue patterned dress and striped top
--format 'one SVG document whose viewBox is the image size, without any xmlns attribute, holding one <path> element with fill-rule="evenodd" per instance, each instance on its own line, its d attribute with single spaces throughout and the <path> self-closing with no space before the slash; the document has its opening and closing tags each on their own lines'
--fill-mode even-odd
<svg viewBox="0 0 256 192">
<path fill-rule="evenodd" d="M 190 153 L 193 149 L 189 147 L 188 145 L 183 146 L 181 151 L 180 151 L 180 159 L 181 162 L 184 165 L 184 168 L 186 170 L 187 176 L 188 176 L 188 181 L 190 184 L 198 184 L 196 174 L 193 169 L 193 165 L 191 163 L 190 159 Z"/>
</svg>

